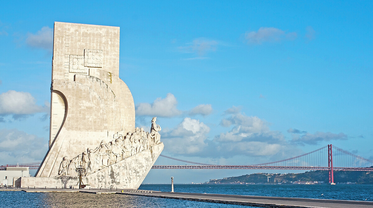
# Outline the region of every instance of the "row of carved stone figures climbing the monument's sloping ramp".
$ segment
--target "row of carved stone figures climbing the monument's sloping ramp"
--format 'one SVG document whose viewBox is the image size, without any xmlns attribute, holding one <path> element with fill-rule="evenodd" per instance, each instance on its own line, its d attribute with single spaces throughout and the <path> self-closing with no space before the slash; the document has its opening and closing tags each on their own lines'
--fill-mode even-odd
<svg viewBox="0 0 373 208">
<path fill-rule="evenodd" d="M 100 145 L 95 149 L 88 148 L 71 160 L 68 157 L 63 157 L 56 177 L 70 176 L 77 177 L 75 169 L 82 165 L 86 172 L 84 175 L 89 175 L 97 170 L 101 170 L 107 166 L 119 162 L 120 160 L 131 157 L 139 152 L 142 152 L 161 143 L 160 134 L 158 131 L 161 127 L 156 124 L 157 117 L 151 120 L 150 133 L 144 131 L 144 128 L 136 127 L 135 131 L 125 133 L 118 131 L 113 135 L 115 140 L 109 143 L 101 141 Z"/>
</svg>

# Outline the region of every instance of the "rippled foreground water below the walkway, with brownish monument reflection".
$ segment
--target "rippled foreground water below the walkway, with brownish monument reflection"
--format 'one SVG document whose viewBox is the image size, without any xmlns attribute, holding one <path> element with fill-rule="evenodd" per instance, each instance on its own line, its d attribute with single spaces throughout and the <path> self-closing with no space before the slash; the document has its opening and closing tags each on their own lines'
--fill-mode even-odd
<svg viewBox="0 0 373 208">
<path fill-rule="evenodd" d="M 176 199 L 161 199 L 122 194 L 88 194 L 80 192 L 26 193 L 23 191 L 0 191 L 2 208 L 182 208 L 182 207 L 217 207 L 244 208 L 244 206 L 213 204 Z M 245 207 L 248 208 L 248 207 Z"/>
</svg>

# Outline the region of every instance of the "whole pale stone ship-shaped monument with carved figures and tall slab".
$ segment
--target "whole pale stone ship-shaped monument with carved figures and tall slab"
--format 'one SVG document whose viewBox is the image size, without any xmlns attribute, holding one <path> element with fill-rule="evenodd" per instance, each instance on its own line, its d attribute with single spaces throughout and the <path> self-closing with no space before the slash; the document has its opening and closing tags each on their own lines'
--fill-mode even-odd
<svg viewBox="0 0 373 208">
<path fill-rule="evenodd" d="M 84 185 L 137 189 L 163 150 L 155 122 L 150 133 L 135 128 L 119 78 L 119 27 L 55 22 L 49 150 L 21 186 L 76 186 L 81 165 Z"/>
</svg>

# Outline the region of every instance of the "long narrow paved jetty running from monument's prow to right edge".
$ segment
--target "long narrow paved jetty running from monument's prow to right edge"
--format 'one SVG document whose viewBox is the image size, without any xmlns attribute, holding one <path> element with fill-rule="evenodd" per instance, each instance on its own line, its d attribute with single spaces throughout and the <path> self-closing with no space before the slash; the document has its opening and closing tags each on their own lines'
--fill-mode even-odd
<svg viewBox="0 0 373 208">
<path fill-rule="evenodd" d="M 150 196 L 166 199 L 181 199 L 189 201 L 235 204 L 253 207 L 281 207 L 281 208 L 373 208 L 373 202 L 346 201 L 329 199 L 304 199 L 270 196 L 244 196 L 226 194 L 197 194 L 179 192 L 123 192 L 117 194 Z"/>
</svg>

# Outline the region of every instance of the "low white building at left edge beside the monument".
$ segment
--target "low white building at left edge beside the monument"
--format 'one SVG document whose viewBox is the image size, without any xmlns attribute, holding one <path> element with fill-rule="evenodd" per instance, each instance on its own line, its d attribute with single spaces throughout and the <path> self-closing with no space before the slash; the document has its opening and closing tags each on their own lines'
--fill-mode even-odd
<svg viewBox="0 0 373 208">
<path fill-rule="evenodd" d="M 1 186 L 16 186 L 17 179 L 29 175 L 28 167 L 6 167 L 6 170 L 0 170 L 0 183 Z"/>
</svg>

